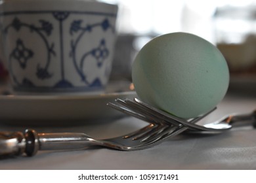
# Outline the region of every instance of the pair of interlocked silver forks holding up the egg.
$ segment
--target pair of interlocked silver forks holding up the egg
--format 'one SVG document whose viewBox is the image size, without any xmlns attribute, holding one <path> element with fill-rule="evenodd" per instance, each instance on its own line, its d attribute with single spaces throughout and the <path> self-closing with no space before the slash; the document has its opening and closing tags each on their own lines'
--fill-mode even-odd
<svg viewBox="0 0 256 183">
<path fill-rule="evenodd" d="M 0 132 L 0 158 L 6 156 L 35 155 L 38 150 L 77 150 L 87 146 L 105 146 L 116 150 L 141 150 L 156 146 L 171 137 L 187 131 L 193 132 L 223 132 L 232 127 L 231 124 L 242 120 L 255 120 L 256 112 L 249 114 L 232 114 L 205 125 L 196 125 L 213 110 L 198 116 L 197 118 L 184 120 L 161 110 L 142 103 L 139 99 L 134 101 L 117 99 L 108 105 L 116 110 L 129 114 L 149 124 L 145 127 L 110 139 L 94 139 L 85 133 L 37 133 L 33 129 L 27 129 L 24 133 Z"/>
</svg>

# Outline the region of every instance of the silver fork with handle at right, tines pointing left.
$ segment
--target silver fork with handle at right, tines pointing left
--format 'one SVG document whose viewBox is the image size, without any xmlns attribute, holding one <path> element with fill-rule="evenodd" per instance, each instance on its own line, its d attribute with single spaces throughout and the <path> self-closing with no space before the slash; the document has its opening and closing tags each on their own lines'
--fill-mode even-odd
<svg viewBox="0 0 256 183">
<path fill-rule="evenodd" d="M 179 135 L 180 133 L 188 129 L 196 133 L 219 133 L 230 129 L 232 127 L 232 124 L 234 124 L 235 122 L 253 120 L 254 127 L 256 124 L 256 110 L 248 114 L 228 114 L 220 120 L 217 120 L 216 122 L 212 122 L 202 126 L 196 125 L 194 123 L 202 120 L 202 118 L 207 116 L 209 113 L 213 112 L 213 110 L 215 110 L 216 107 L 213 108 L 213 110 L 204 114 L 203 116 L 199 116 L 198 118 L 186 121 L 182 118 L 177 118 L 175 116 L 167 114 L 166 112 L 151 107 L 150 105 L 147 105 L 146 103 L 143 103 L 142 101 L 136 98 L 134 99 L 134 101 L 131 101 L 129 99 L 125 99 L 124 101 L 121 99 L 116 99 L 116 102 L 124 107 L 116 105 L 114 103 L 108 103 L 108 105 L 112 108 L 115 108 L 116 110 L 124 112 L 125 114 L 134 116 L 135 118 L 141 118 L 141 116 L 143 116 L 143 118 L 141 119 L 144 119 L 145 121 L 154 119 L 156 122 L 159 123 L 172 124 L 169 125 L 169 127 L 166 127 L 164 130 L 157 133 L 156 135 L 152 135 L 149 139 L 144 139 L 144 142 L 146 143 L 143 144 L 140 148 L 146 148 L 146 146 L 152 146 L 152 144 L 160 144 L 161 142 L 170 139 L 171 137 L 174 137 L 176 135 Z"/>
</svg>

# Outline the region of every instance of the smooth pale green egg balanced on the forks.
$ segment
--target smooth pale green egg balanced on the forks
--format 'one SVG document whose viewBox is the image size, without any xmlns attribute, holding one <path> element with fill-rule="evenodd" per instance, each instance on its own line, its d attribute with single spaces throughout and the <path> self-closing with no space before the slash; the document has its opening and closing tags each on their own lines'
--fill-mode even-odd
<svg viewBox="0 0 256 183">
<path fill-rule="evenodd" d="M 213 44 L 179 32 L 148 42 L 133 62 L 132 78 L 145 103 L 181 118 L 195 118 L 223 99 L 229 71 Z"/>
</svg>

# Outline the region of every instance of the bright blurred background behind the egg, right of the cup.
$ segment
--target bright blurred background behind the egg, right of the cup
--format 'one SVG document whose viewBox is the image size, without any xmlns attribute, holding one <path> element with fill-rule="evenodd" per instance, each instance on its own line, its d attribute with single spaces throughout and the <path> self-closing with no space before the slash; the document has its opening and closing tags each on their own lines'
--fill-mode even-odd
<svg viewBox="0 0 256 183">
<path fill-rule="evenodd" d="M 230 87 L 256 86 L 256 1 L 100 0 L 119 5 L 112 79 L 131 79 L 137 52 L 152 37 L 184 31 L 215 44 L 230 69 Z"/>
</svg>

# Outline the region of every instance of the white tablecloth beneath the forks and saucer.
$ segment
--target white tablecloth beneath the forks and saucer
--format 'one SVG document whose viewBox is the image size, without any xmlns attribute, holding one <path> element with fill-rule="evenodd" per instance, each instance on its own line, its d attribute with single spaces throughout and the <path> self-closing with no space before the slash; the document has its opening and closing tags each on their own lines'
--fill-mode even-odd
<svg viewBox="0 0 256 183">
<path fill-rule="evenodd" d="M 225 114 L 256 108 L 256 95 L 228 93 L 217 110 L 200 123 Z M 83 132 L 96 138 L 114 137 L 146 123 L 126 116 L 64 127 L 34 126 L 38 132 Z M 24 131 L 28 126 L 0 124 L 1 131 Z M 131 152 L 89 147 L 72 151 L 40 151 L 36 156 L 0 159 L 0 169 L 256 169 L 256 130 L 236 125 L 220 134 L 182 134 L 146 150 Z"/>
</svg>

